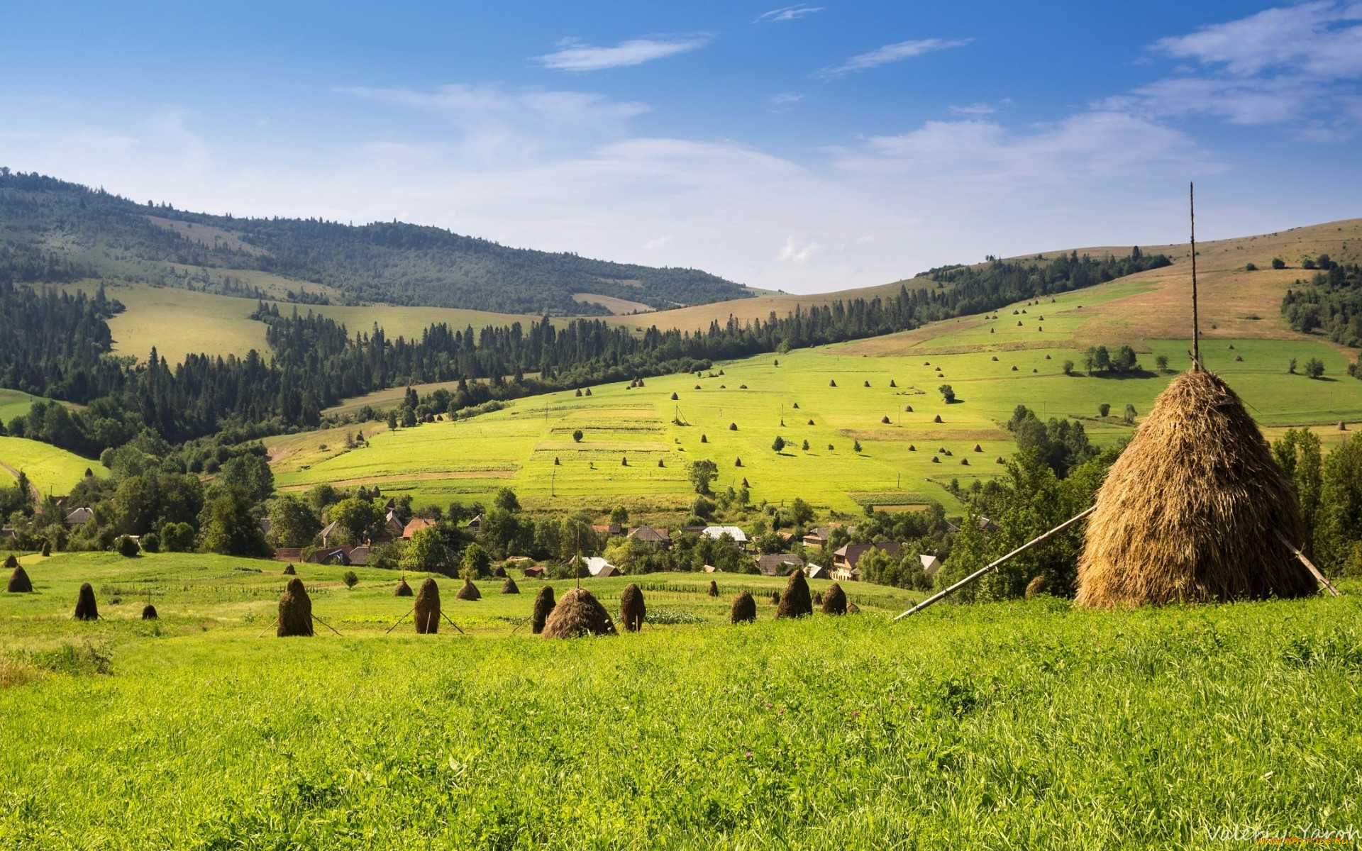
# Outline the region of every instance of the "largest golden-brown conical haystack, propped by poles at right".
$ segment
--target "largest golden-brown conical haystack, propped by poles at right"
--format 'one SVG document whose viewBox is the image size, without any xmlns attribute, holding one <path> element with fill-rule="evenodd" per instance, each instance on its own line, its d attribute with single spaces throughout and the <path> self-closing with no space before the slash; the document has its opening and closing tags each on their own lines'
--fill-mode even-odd
<svg viewBox="0 0 1362 851">
<path fill-rule="evenodd" d="M 1076 602 L 1090 607 L 1305 596 L 1276 536 L 1299 505 L 1253 418 L 1204 370 L 1169 384 L 1111 466 L 1088 519 Z"/>
</svg>

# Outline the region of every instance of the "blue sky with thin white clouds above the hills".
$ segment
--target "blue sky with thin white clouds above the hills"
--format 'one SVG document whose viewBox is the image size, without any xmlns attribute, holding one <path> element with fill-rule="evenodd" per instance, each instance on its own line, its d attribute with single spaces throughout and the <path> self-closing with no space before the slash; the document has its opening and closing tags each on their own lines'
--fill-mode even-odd
<svg viewBox="0 0 1362 851">
<path fill-rule="evenodd" d="M 0 165 L 868 286 L 1362 215 L 1362 3 L 11 7 Z"/>
</svg>

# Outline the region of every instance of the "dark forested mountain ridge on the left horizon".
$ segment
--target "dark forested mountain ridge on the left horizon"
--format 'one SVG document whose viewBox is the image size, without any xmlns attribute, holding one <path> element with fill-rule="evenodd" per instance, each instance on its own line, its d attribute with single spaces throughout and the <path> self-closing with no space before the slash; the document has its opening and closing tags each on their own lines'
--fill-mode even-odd
<svg viewBox="0 0 1362 851">
<path fill-rule="evenodd" d="M 297 280 L 298 301 L 507 313 L 606 313 L 590 304 L 590 294 L 654 308 L 748 295 L 740 285 L 700 270 L 508 248 L 402 222 L 350 226 L 185 212 L 0 169 L 0 280 L 120 276 L 199 289 L 210 282 L 207 274 L 184 267 L 252 270 Z M 311 290 L 305 283 L 313 285 Z M 219 274 L 215 286 L 257 294 L 249 279 L 230 274 Z"/>
</svg>

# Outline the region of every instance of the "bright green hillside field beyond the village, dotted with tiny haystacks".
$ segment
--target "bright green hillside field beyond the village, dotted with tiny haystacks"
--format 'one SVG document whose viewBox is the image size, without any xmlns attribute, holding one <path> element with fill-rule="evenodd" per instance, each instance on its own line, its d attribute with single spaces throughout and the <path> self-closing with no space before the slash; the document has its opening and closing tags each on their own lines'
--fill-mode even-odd
<svg viewBox="0 0 1362 851">
<path fill-rule="evenodd" d="M 365 483 L 443 504 L 486 500 L 509 486 L 533 511 L 622 501 L 676 516 L 693 497 L 686 463 L 707 457 L 719 467 L 719 489 L 746 479 L 756 502 L 804 497 L 820 508 L 857 512 L 865 504 L 937 500 L 957 508 L 943 485 L 997 474 L 997 459 L 1015 451 L 1005 422 L 1017 404 L 1042 418 L 1079 418 L 1099 444 L 1132 430 L 1121 419 L 1126 404 L 1137 415 L 1148 413 L 1173 377 L 1155 372 L 1155 358 L 1162 354 L 1184 368 L 1189 340 L 1113 338 L 1106 340 L 1113 349 L 1137 347 L 1144 373 L 1064 374 L 1066 359 L 1081 370 L 1075 335 L 1118 313 L 1148 286 L 1113 282 L 1053 302 L 1013 305 L 998 310 L 997 320 L 974 316 L 716 364 L 712 377 L 665 376 L 633 389 L 627 383 L 595 387 L 591 396 L 564 391 L 527 398 L 467 421 L 372 434 L 376 423 L 362 423 L 369 447 L 353 451 L 343 448 L 353 428 L 267 443 L 287 443 L 287 455 L 275 463 L 276 483 L 286 490 Z M 1362 421 L 1362 381 L 1346 374 L 1347 355 L 1321 342 L 1214 339 L 1203 342 L 1201 358 L 1265 428 L 1313 423 L 1332 445 L 1351 434 L 1337 430 L 1339 421 Z M 1290 358 L 1301 368 L 1320 358 L 1325 379 L 1287 374 Z M 955 404 L 944 402 L 941 384 L 955 389 Z M 1102 403 L 1111 406 L 1107 418 L 1099 417 Z M 580 443 L 572 438 L 577 429 Z M 776 434 L 789 444 L 780 453 L 772 449 Z"/>
</svg>

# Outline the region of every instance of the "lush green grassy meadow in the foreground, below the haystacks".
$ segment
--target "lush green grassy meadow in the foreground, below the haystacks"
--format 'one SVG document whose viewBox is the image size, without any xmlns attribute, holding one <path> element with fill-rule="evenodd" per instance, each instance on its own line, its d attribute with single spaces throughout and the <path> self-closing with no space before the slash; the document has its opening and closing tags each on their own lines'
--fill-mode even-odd
<svg viewBox="0 0 1362 851">
<path fill-rule="evenodd" d="M 697 622 L 550 643 L 503 620 L 534 581 L 475 603 L 443 581 L 470 635 L 384 636 L 394 575 L 304 568 L 345 636 L 279 640 L 255 637 L 271 562 L 25 564 L 37 594 L 0 595 L 0 848 L 1205 848 L 1362 821 L 1355 584 L 733 628 L 731 591 L 775 580 L 710 602 L 659 575 L 650 609 Z M 82 580 L 105 621 L 67 620 Z M 613 606 L 622 581 L 586 584 Z M 135 620 L 147 588 L 161 621 Z"/>
</svg>

